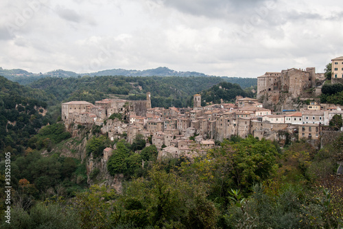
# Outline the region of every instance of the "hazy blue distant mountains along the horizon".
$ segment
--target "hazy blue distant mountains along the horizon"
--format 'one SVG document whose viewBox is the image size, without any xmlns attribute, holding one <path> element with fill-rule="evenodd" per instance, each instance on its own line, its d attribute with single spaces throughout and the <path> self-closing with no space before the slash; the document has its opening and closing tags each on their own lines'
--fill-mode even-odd
<svg viewBox="0 0 343 229">
<path fill-rule="evenodd" d="M 209 77 L 209 75 L 200 73 L 200 72 L 178 72 L 168 67 L 157 67 L 155 69 L 146 69 L 146 70 L 126 70 L 126 69 L 108 69 L 99 72 L 91 72 L 91 73 L 75 73 L 70 71 L 64 71 L 62 69 L 54 70 L 51 72 L 47 72 L 42 74 L 34 74 L 32 72 L 27 72 L 23 69 L 2 69 L 0 67 L 0 76 L 4 76 L 9 80 L 14 82 L 18 82 L 21 85 L 27 85 L 32 83 L 40 78 L 45 77 L 58 77 L 58 78 L 71 78 L 71 77 L 78 77 L 78 76 L 182 76 L 182 77 L 189 77 L 189 76 L 202 76 L 202 77 Z M 237 78 L 237 77 L 227 77 L 224 76 L 225 81 L 229 83 L 237 83 L 241 85 L 244 89 L 246 87 L 254 87 L 257 85 L 257 78 Z"/>
</svg>

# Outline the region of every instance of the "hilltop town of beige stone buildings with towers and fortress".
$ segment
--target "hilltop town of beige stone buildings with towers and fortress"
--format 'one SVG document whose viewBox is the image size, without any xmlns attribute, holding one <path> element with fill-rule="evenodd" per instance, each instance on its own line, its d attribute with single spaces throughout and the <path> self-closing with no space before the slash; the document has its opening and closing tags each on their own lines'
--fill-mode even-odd
<svg viewBox="0 0 343 229">
<path fill-rule="evenodd" d="M 75 131 L 75 124 L 101 126 L 102 133 L 107 133 L 110 140 L 125 138 L 132 143 L 140 134 L 147 144 L 156 145 L 159 157 L 191 157 L 233 136 L 247 138 L 252 135 L 276 140 L 281 145 L 300 139 L 317 144 L 323 127 L 329 125 L 331 118 L 335 114 L 342 116 L 341 107 L 320 104 L 315 98 L 296 109 L 292 103 L 287 105 L 292 109 L 283 110 L 263 105 L 276 107 L 281 98 L 286 97 L 286 101 L 289 101 L 287 98 L 300 98 L 308 89 L 320 94 L 323 83 L 324 74 L 316 74 L 314 67 L 293 68 L 259 76 L 257 99 L 237 96 L 235 104 L 202 107 L 202 98 L 196 94 L 193 107 L 165 109 L 151 107 L 148 92 L 146 100 L 105 99 L 95 105 L 85 101 L 65 102 L 62 120 L 70 131 Z"/>
</svg>

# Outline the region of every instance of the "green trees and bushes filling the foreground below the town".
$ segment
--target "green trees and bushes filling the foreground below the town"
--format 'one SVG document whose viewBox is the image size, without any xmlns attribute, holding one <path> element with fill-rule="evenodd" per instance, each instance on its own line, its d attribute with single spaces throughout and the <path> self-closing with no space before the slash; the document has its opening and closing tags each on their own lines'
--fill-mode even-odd
<svg viewBox="0 0 343 229">
<path fill-rule="evenodd" d="M 225 140 L 193 160 L 159 162 L 154 149 L 134 153 L 132 145 L 119 141 L 108 169 L 113 175 L 128 175 L 123 193 L 91 186 L 72 199 L 61 193 L 59 198 L 47 195 L 45 202 L 34 195 L 41 195 L 47 184 L 75 179 L 77 164 L 31 153 L 16 160 L 23 173 L 14 174 L 21 178 L 16 188 L 34 201 L 29 206 L 14 204 L 18 214 L 10 226 L 62 226 L 58 220 L 66 220 L 71 228 L 340 228 L 342 180 L 333 173 L 342 151 L 335 149 L 341 143 L 318 151 L 298 142 L 279 153 L 273 142 L 250 136 Z M 149 165 L 138 172 L 142 158 Z M 65 179 L 67 175 L 71 178 Z M 53 180 L 57 182 L 51 184 Z M 43 206 L 55 215 L 48 217 Z M 8 226 L 2 218 L 2 226 Z"/>
</svg>

